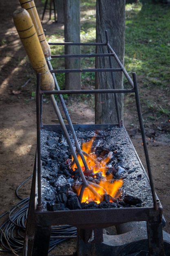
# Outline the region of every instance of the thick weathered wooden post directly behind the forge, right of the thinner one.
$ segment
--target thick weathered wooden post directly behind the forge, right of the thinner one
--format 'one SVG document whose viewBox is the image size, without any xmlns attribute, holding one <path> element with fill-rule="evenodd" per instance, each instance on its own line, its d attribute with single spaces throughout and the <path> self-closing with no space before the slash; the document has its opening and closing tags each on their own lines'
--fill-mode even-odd
<svg viewBox="0 0 170 256">
<path fill-rule="evenodd" d="M 124 63 L 125 45 L 125 5 L 126 0 L 97 0 L 96 1 L 96 42 L 105 43 L 105 31 L 108 31 L 109 43 Z M 107 47 L 96 47 L 97 53 L 107 53 Z M 113 57 L 112 57 L 113 58 Z M 113 67 L 118 67 L 112 61 Z M 96 68 L 110 67 L 108 57 L 97 58 Z M 123 88 L 123 74 L 113 72 L 115 88 Z M 113 83 L 110 72 L 96 73 L 96 89 L 112 89 Z M 117 94 L 120 119 L 123 119 L 123 94 Z M 117 111 L 114 94 L 97 94 L 95 96 L 95 123 L 117 124 Z"/>
</svg>

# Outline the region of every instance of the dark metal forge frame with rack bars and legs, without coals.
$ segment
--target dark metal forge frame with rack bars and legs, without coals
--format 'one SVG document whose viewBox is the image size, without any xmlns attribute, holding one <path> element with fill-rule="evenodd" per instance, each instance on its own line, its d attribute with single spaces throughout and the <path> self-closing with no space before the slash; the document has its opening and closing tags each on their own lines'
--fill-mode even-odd
<svg viewBox="0 0 170 256">
<path fill-rule="evenodd" d="M 52 43 L 50 43 L 52 45 Z M 40 75 L 37 78 L 37 152 L 35 157 L 35 164 L 33 170 L 33 181 L 31 187 L 29 213 L 26 225 L 26 234 L 24 240 L 23 256 L 47 256 L 49 249 L 49 239 L 51 234 L 51 226 L 53 225 L 71 225 L 77 227 L 77 256 L 101 256 L 101 255 L 150 255 L 150 256 L 164 256 L 168 254 L 167 247 L 169 246 L 169 238 L 165 238 L 162 231 L 162 206 L 155 194 L 155 189 L 152 181 L 152 174 L 150 170 L 150 163 L 148 157 L 148 150 L 146 146 L 146 138 L 144 125 L 141 117 L 141 108 L 139 101 L 139 92 L 137 87 L 136 74 L 132 74 L 133 80 L 130 78 L 123 65 L 119 61 L 117 55 L 110 47 L 108 40 L 106 43 L 54 43 L 53 45 L 101 45 L 108 47 L 108 54 L 91 54 L 91 56 L 99 56 L 108 58 L 115 58 L 118 67 L 108 67 L 107 72 L 123 72 L 128 80 L 130 89 L 109 89 L 109 90 L 55 90 L 55 91 L 42 91 L 40 90 Z M 80 54 L 79 57 L 89 57 L 89 54 Z M 60 57 L 74 57 L 60 56 Z M 104 72 L 106 69 L 101 70 L 62 70 L 62 72 Z M 61 72 L 61 70 L 51 70 L 52 73 Z M 150 183 L 152 205 L 146 207 L 122 207 L 113 209 L 86 209 L 86 210 L 64 210 L 64 211 L 47 211 L 42 207 L 42 191 L 41 191 L 41 129 L 47 130 L 62 130 L 61 126 L 49 126 L 41 124 L 41 111 L 42 111 L 42 95 L 43 94 L 85 94 L 85 93 L 135 93 L 137 112 L 139 117 L 139 124 L 141 128 L 141 135 L 144 144 L 144 152 L 146 156 L 146 163 L 148 168 L 148 180 Z M 124 127 L 121 120 L 118 124 L 102 124 L 102 125 L 81 125 L 82 129 L 99 129 L 104 130 L 108 127 Z M 79 127 L 79 126 L 78 126 Z M 69 125 L 65 127 L 69 129 Z M 64 128 L 64 129 L 65 129 Z M 77 128 L 76 126 L 74 127 Z M 125 129 L 125 128 L 124 128 Z M 130 138 L 128 137 L 129 141 Z M 130 141 L 130 144 L 131 141 Z M 135 148 L 134 152 L 137 155 Z M 139 157 L 139 164 L 142 166 Z M 142 169 L 144 170 L 143 166 Z M 145 173 L 145 170 L 144 170 Z M 147 176 L 147 174 L 145 173 Z M 137 223 L 139 232 L 137 236 L 133 236 L 135 231 L 133 228 L 123 231 L 124 234 L 116 236 L 108 236 L 103 234 L 103 229 L 110 226 L 123 227 L 124 223 Z M 144 229 L 147 231 L 144 232 Z M 119 228 L 118 228 L 119 229 Z M 121 229 L 121 228 L 120 228 Z M 142 231 L 143 230 L 143 231 Z M 89 238 L 91 243 L 89 243 Z M 138 238 L 137 238 L 138 237 Z M 140 243 L 139 243 L 140 237 Z M 123 238 L 123 239 L 121 239 Z M 165 241 L 166 240 L 166 241 Z M 128 248 L 128 250 L 126 250 Z M 130 249 L 129 249 L 130 248 Z M 166 254 L 164 254 L 164 249 Z"/>
</svg>

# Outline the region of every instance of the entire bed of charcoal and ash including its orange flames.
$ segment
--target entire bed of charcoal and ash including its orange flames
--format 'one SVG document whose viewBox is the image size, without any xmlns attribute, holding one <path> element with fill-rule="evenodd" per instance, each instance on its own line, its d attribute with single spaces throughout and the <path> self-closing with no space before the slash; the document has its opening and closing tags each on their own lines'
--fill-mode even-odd
<svg viewBox="0 0 170 256">
<path fill-rule="evenodd" d="M 63 132 L 41 130 L 44 209 L 152 206 L 148 177 L 124 127 L 107 125 L 96 133 L 78 126 L 76 135 L 88 166 L 78 155 L 88 186 L 82 182 Z"/>
</svg>

